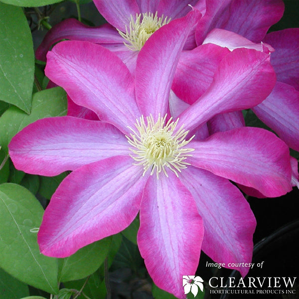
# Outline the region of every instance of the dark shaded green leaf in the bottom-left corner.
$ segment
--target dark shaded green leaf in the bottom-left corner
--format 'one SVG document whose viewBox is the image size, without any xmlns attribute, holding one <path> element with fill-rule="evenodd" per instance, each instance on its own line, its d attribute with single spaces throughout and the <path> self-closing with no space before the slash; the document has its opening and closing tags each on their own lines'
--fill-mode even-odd
<svg viewBox="0 0 299 299">
<path fill-rule="evenodd" d="M 28 286 L 16 280 L 0 268 L 1 299 L 19 299 L 29 296 Z"/>
</svg>

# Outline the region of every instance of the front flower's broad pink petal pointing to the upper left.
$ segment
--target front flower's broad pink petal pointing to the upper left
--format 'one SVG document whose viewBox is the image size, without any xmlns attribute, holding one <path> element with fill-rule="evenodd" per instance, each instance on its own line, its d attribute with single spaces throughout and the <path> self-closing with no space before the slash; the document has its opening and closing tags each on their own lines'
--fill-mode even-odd
<svg viewBox="0 0 299 299">
<path fill-rule="evenodd" d="M 134 126 L 140 112 L 133 77 L 120 58 L 97 44 L 64 41 L 48 52 L 47 59 L 46 75 L 76 104 L 129 133 L 127 126 Z"/>
</svg>

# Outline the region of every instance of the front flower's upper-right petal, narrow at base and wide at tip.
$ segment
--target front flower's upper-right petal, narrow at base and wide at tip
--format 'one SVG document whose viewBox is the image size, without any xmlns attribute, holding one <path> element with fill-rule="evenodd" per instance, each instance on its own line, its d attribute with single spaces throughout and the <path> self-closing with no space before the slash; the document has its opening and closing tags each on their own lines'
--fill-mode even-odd
<svg viewBox="0 0 299 299">
<path fill-rule="evenodd" d="M 269 55 L 235 49 L 219 63 L 208 90 L 179 116 L 179 124 L 192 130 L 216 114 L 254 107 L 267 98 L 275 82 Z"/>
</svg>

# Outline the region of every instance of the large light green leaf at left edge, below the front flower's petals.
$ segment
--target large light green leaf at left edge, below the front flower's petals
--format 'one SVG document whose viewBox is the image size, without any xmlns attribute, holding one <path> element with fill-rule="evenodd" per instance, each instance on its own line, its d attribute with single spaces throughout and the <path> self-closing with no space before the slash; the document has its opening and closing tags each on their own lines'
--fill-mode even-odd
<svg viewBox="0 0 299 299">
<path fill-rule="evenodd" d="M 58 292 L 57 259 L 40 254 L 36 233 L 43 208 L 24 187 L 0 185 L 0 267 L 18 280 L 48 293 Z"/>
</svg>

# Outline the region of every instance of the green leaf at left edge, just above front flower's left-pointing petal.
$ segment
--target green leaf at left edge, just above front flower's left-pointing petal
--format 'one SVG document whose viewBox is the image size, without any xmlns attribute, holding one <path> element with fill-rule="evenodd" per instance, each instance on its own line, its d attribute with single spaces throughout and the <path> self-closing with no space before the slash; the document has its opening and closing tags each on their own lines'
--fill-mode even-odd
<svg viewBox="0 0 299 299">
<path fill-rule="evenodd" d="M 29 115 L 10 107 L 0 117 L 0 144 L 5 152 L 11 138 L 29 124 L 46 117 L 66 114 L 66 93 L 60 87 L 37 92 L 33 95 L 32 110 Z"/>
</svg>

